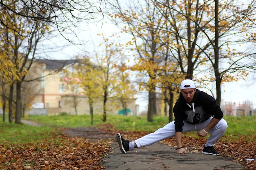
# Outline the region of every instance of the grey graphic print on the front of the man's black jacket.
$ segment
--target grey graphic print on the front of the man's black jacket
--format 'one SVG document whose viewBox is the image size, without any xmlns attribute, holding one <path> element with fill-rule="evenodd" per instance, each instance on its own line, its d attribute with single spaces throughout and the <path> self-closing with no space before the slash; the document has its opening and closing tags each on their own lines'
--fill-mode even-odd
<svg viewBox="0 0 256 170">
<path fill-rule="evenodd" d="M 194 103 L 192 103 L 192 106 L 187 103 L 187 105 L 192 108 L 192 110 L 185 110 L 185 114 L 187 116 L 187 119 L 185 120 L 189 124 L 199 124 L 203 121 L 209 119 L 211 115 L 207 114 L 202 106 L 194 106 Z"/>
</svg>

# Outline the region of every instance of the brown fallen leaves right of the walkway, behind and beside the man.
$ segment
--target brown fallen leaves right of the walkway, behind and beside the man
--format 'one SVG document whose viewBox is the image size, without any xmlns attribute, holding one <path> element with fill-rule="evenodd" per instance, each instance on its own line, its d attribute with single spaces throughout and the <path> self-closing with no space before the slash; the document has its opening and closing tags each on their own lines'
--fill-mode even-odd
<svg viewBox="0 0 256 170">
<path fill-rule="evenodd" d="M 137 139 L 138 137 L 142 137 L 148 133 L 146 132 L 121 132 L 125 139 Z M 229 157 L 230 160 L 241 163 L 245 166 L 244 170 L 254 170 L 256 169 L 256 160 L 249 161 L 247 159 L 255 159 L 256 158 L 256 143 L 247 143 L 245 139 L 247 139 L 248 136 L 241 137 L 240 139 L 236 139 L 231 142 L 227 142 L 224 137 L 222 137 L 221 140 L 219 140 L 214 148 L 220 153 L 221 156 Z M 201 153 L 204 147 L 204 144 L 206 144 L 207 137 L 201 138 L 201 137 L 190 137 L 184 134 L 182 137 L 182 143 L 186 150 L 190 152 L 198 152 Z M 164 144 L 167 144 L 169 146 L 176 147 L 176 141 L 175 137 L 166 139 L 164 141 L 161 141 Z"/>
</svg>

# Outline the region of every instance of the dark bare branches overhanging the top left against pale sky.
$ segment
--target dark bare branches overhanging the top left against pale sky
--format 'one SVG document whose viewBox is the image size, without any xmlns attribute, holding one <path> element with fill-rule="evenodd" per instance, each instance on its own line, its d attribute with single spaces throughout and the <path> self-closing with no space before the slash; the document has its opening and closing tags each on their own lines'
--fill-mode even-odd
<svg viewBox="0 0 256 170">
<path fill-rule="evenodd" d="M 42 21 L 58 29 L 59 33 L 68 41 L 68 32 L 76 34 L 74 28 L 79 28 L 83 21 L 97 22 L 104 19 L 104 11 L 112 10 L 113 5 L 108 0 L 18 0 L 0 1 L 0 9 L 9 15 L 15 14 L 22 18 L 37 22 Z M 115 8 L 115 7 L 114 7 Z M 0 18 L 0 23 L 12 31 L 7 21 Z"/>
</svg>

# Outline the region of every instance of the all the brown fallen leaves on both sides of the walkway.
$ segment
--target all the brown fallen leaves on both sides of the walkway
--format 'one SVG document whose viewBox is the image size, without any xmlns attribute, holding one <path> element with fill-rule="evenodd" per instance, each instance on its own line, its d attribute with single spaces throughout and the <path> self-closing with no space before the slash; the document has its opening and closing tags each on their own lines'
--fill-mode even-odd
<svg viewBox="0 0 256 170">
<path fill-rule="evenodd" d="M 110 151 L 112 136 L 118 131 L 110 124 L 99 127 L 99 131 L 90 131 L 83 136 L 76 137 L 75 133 L 69 135 L 56 134 L 56 138 L 43 141 L 41 144 L 13 144 L 0 145 L 0 162 L 3 170 L 103 170 L 99 166 L 101 159 Z M 126 139 L 137 139 L 146 132 L 121 131 Z M 81 133 L 80 133 L 81 134 Z M 107 134 L 107 137 L 102 137 Z M 91 138 L 90 136 L 93 136 Z M 109 136 L 109 138 L 108 138 Z M 111 137 L 110 137 L 111 136 Z M 96 140 L 97 137 L 100 140 Z M 175 138 L 162 141 L 175 146 Z M 206 142 L 204 138 L 183 137 L 183 144 L 191 152 L 201 152 Z M 243 138 L 227 142 L 220 140 L 215 146 L 220 155 L 230 157 L 233 161 L 242 163 L 245 170 L 256 168 L 256 161 L 247 159 L 256 158 L 256 144 L 247 143 Z"/>
</svg>

